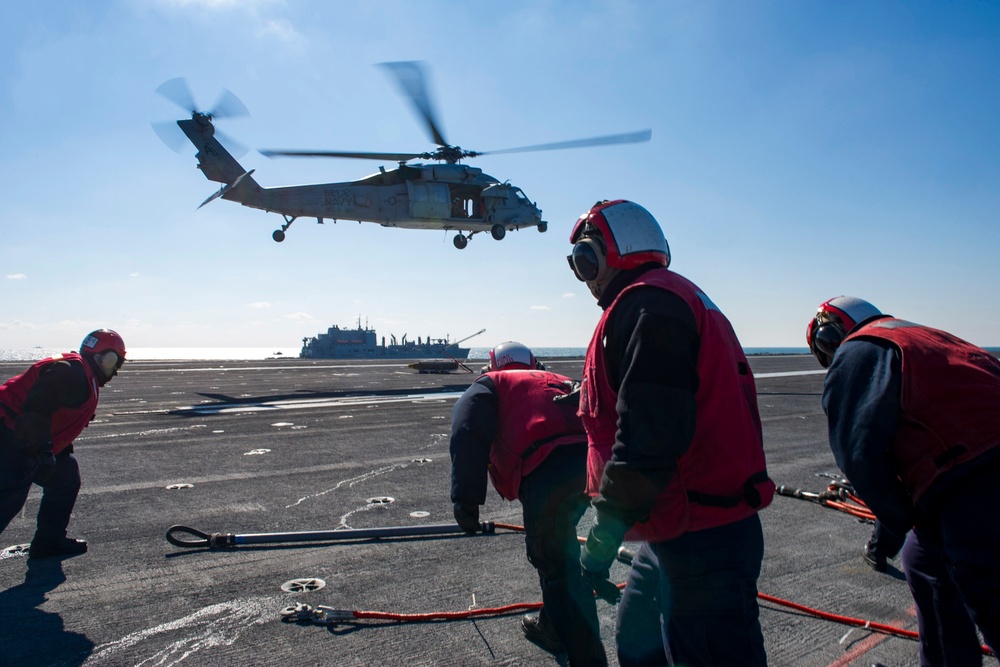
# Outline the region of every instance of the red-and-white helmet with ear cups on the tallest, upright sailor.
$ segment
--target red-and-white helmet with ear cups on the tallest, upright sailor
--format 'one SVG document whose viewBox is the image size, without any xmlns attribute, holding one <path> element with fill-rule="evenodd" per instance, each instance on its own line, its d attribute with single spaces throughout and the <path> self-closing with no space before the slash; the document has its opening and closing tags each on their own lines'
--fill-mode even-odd
<svg viewBox="0 0 1000 667">
<path fill-rule="evenodd" d="M 649 262 L 670 266 L 670 246 L 656 218 L 624 199 L 594 204 L 576 221 L 569 241 L 569 266 L 598 299 L 619 271 Z"/>
</svg>

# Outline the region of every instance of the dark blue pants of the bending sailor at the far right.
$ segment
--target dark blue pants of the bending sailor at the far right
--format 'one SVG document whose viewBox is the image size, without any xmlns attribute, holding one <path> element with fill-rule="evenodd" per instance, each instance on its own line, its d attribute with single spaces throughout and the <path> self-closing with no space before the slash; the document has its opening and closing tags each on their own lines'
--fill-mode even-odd
<svg viewBox="0 0 1000 667">
<path fill-rule="evenodd" d="M 921 660 L 925 659 L 925 650 L 933 651 L 933 646 L 925 645 L 924 641 L 925 635 L 931 639 L 934 634 L 930 628 L 937 627 L 938 636 L 949 630 L 941 626 L 935 605 L 940 605 L 955 590 L 986 645 L 994 653 L 1000 650 L 997 489 L 1000 489 L 1000 466 L 996 464 L 963 479 L 934 502 L 933 510 L 918 516 L 913 529 L 916 540 L 913 549 L 919 551 L 909 553 L 909 541 L 903 547 L 903 570 L 913 591 L 922 636 Z M 942 570 L 949 576 L 942 576 Z"/>
</svg>

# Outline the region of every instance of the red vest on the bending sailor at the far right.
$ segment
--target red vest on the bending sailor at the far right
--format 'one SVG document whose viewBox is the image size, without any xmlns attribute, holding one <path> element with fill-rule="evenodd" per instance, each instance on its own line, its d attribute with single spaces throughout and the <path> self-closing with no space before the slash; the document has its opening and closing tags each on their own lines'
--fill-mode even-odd
<svg viewBox="0 0 1000 667">
<path fill-rule="evenodd" d="M 957 465 L 1000 446 L 1000 361 L 945 331 L 886 318 L 844 342 L 876 338 L 902 358 L 900 415 L 892 444 L 899 478 L 916 503 Z"/>
</svg>

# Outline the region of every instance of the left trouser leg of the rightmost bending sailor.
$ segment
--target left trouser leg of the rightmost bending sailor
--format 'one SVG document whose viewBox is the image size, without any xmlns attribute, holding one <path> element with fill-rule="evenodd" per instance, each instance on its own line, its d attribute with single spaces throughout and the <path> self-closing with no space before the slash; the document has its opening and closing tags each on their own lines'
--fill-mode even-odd
<svg viewBox="0 0 1000 667">
<path fill-rule="evenodd" d="M 921 543 L 911 532 L 903 544 L 902 565 L 917 607 L 921 667 L 980 667 L 983 652 L 976 625 L 948 574 L 944 549 Z"/>
</svg>

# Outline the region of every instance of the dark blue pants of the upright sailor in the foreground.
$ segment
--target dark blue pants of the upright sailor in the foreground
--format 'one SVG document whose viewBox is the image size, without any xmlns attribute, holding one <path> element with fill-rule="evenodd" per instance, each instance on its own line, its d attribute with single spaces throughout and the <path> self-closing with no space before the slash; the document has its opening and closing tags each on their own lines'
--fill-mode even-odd
<svg viewBox="0 0 1000 667">
<path fill-rule="evenodd" d="M 622 667 L 766 665 L 757 606 L 760 518 L 645 542 L 618 607 Z"/>
</svg>

